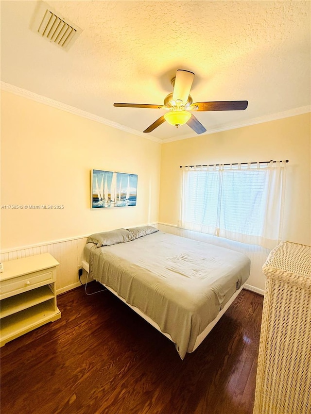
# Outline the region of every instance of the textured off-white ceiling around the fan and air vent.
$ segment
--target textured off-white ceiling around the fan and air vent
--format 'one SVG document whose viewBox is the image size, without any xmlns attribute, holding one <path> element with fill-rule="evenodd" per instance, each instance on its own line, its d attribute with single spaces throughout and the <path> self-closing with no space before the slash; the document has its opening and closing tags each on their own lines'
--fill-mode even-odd
<svg viewBox="0 0 311 414">
<path fill-rule="evenodd" d="M 194 102 L 249 101 L 245 111 L 196 113 L 207 133 L 310 105 L 310 1 L 46 4 L 83 32 L 62 50 L 30 29 L 38 2 L 2 0 L 1 81 L 140 134 L 164 111 L 113 103 L 162 104 L 178 68 L 195 73 Z M 148 135 L 195 132 L 165 122 Z"/>
</svg>

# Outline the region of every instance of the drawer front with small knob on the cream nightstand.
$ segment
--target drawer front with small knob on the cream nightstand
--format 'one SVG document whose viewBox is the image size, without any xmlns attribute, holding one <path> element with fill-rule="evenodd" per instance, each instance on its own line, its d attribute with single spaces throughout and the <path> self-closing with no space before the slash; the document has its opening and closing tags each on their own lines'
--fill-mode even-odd
<svg viewBox="0 0 311 414">
<path fill-rule="evenodd" d="M 29 275 L 19 276 L 17 278 L 8 279 L 0 282 L 0 298 L 8 298 L 27 290 L 34 289 L 44 284 L 54 282 L 52 269 L 41 270 L 40 272 Z"/>
</svg>

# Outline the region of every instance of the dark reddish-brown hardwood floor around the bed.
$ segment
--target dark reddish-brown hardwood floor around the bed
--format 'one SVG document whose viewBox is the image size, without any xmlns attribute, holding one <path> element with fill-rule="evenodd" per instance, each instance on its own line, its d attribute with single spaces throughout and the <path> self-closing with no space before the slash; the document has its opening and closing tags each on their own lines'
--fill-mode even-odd
<svg viewBox="0 0 311 414">
<path fill-rule="evenodd" d="M 262 302 L 243 290 L 182 361 L 110 292 L 60 295 L 61 319 L 1 348 L 1 414 L 251 414 Z"/>
</svg>

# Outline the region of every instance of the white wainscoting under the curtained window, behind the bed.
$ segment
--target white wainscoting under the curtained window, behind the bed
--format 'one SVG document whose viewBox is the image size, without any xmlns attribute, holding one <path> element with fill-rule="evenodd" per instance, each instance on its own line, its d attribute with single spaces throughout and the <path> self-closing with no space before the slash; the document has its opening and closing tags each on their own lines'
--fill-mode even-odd
<svg viewBox="0 0 311 414">
<path fill-rule="evenodd" d="M 199 240 L 206 243 L 211 243 L 220 247 L 230 248 L 246 254 L 251 260 L 251 272 L 245 288 L 252 292 L 264 294 L 265 277 L 262 274 L 262 265 L 267 260 L 269 249 L 262 248 L 255 245 L 247 245 L 244 243 L 235 242 L 221 237 L 212 236 L 210 234 L 194 232 L 192 230 L 182 229 L 172 224 L 158 223 L 156 226 L 162 232 L 172 233 L 177 236 L 187 237 L 193 240 Z"/>
</svg>

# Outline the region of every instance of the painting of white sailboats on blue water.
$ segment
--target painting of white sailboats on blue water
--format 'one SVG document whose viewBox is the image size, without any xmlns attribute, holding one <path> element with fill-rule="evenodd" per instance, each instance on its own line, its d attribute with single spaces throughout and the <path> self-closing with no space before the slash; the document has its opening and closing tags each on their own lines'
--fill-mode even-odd
<svg viewBox="0 0 311 414">
<path fill-rule="evenodd" d="M 136 206 L 137 174 L 93 169 L 91 208 Z"/>
</svg>

